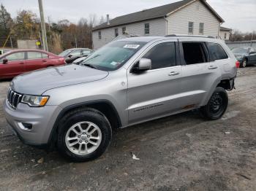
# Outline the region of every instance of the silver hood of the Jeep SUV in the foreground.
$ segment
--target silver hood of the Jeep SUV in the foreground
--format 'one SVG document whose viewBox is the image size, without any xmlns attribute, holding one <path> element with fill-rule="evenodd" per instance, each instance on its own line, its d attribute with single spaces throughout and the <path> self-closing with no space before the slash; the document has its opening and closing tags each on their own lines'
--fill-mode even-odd
<svg viewBox="0 0 256 191">
<path fill-rule="evenodd" d="M 56 87 L 93 82 L 107 76 L 108 71 L 72 64 L 22 74 L 12 80 L 10 87 L 18 93 L 41 95 Z"/>
</svg>

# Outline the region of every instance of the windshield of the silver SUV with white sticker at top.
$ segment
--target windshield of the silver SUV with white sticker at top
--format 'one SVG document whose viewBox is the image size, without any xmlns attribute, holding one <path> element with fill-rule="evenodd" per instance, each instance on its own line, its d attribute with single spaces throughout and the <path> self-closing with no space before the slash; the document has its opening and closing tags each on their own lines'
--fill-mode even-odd
<svg viewBox="0 0 256 191">
<path fill-rule="evenodd" d="M 114 71 L 135 55 L 146 42 L 116 41 L 105 45 L 86 58 L 82 65 L 96 69 Z"/>
</svg>

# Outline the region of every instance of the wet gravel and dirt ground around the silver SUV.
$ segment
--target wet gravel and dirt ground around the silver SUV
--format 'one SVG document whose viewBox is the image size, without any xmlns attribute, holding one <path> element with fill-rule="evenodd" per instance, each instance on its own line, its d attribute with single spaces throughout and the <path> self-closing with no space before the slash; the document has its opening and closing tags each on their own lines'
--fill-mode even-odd
<svg viewBox="0 0 256 191">
<path fill-rule="evenodd" d="M 229 98 L 221 120 L 194 111 L 115 130 L 88 163 L 23 145 L 1 107 L 0 190 L 256 190 L 256 67 L 238 71 Z"/>
</svg>

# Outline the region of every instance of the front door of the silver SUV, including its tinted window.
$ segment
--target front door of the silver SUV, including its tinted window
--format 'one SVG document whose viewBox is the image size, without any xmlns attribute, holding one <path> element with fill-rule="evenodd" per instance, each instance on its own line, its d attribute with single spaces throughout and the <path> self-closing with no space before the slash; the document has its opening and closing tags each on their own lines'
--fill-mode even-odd
<svg viewBox="0 0 256 191">
<path fill-rule="evenodd" d="M 141 74 L 133 74 L 132 70 L 128 70 L 130 124 L 161 117 L 179 109 L 182 74 L 176 56 L 176 42 L 157 42 L 142 55 L 142 58 L 151 59 L 151 70 Z"/>
</svg>

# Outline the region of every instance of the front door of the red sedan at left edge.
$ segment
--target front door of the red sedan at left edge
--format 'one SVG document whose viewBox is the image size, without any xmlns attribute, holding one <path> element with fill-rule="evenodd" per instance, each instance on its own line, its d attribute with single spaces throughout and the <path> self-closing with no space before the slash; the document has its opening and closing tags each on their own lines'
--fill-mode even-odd
<svg viewBox="0 0 256 191">
<path fill-rule="evenodd" d="M 7 63 L 3 64 L 3 60 L 7 59 Z M 23 74 L 26 63 L 25 52 L 13 52 L 6 55 L 0 60 L 0 78 L 15 77 L 18 74 Z"/>
</svg>

